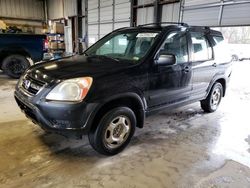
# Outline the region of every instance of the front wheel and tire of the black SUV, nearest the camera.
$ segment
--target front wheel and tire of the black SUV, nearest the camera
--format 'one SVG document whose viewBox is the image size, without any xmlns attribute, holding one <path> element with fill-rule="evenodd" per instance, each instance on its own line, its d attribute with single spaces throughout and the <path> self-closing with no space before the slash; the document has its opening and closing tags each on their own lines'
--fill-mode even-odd
<svg viewBox="0 0 250 188">
<path fill-rule="evenodd" d="M 136 127 L 136 116 L 128 107 L 117 107 L 108 111 L 91 130 L 90 145 L 104 155 L 121 152 L 130 142 Z"/>
</svg>

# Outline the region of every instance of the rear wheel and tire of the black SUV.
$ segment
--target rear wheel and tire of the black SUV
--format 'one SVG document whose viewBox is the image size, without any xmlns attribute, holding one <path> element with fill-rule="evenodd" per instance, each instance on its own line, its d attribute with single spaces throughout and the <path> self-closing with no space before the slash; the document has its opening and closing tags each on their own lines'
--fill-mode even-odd
<svg viewBox="0 0 250 188">
<path fill-rule="evenodd" d="M 223 87 L 219 82 L 216 82 L 206 99 L 201 101 L 201 108 L 205 112 L 214 112 L 220 105 L 223 96 Z"/>
</svg>

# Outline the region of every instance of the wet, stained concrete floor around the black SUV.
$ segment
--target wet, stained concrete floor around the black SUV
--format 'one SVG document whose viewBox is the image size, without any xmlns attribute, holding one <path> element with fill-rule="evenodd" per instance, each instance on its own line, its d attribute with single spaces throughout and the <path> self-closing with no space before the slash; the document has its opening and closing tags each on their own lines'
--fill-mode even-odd
<svg viewBox="0 0 250 188">
<path fill-rule="evenodd" d="M 236 62 L 220 108 L 199 103 L 161 112 L 119 155 L 83 140 L 45 134 L 13 99 L 0 73 L 0 187 L 250 187 L 250 62 Z"/>
</svg>

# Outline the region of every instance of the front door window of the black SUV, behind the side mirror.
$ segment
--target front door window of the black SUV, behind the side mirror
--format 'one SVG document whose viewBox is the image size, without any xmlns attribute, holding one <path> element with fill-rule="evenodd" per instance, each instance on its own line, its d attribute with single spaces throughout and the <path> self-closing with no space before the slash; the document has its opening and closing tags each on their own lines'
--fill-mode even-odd
<svg viewBox="0 0 250 188">
<path fill-rule="evenodd" d="M 186 33 L 175 31 L 170 33 L 165 39 L 160 49 L 160 54 L 173 54 L 177 63 L 188 61 L 188 43 Z"/>
</svg>

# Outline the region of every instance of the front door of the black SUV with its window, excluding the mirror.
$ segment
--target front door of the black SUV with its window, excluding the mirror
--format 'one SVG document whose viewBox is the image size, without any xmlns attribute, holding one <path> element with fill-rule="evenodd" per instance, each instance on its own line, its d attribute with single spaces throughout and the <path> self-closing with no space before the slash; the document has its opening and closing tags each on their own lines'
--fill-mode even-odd
<svg viewBox="0 0 250 188">
<path fill-rule="evenodd" d="M 167 34 L 156 55 L 172 54 L 174 65 L 156 65 L 149 73 L 149 108 L 169 106 L 188 100 L 192 89 L 192 69 L 189 62 L 188 35 L 186 31 L 175 30 Z"/>
</svg>

